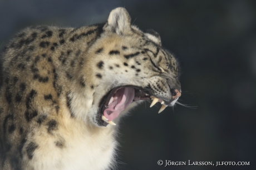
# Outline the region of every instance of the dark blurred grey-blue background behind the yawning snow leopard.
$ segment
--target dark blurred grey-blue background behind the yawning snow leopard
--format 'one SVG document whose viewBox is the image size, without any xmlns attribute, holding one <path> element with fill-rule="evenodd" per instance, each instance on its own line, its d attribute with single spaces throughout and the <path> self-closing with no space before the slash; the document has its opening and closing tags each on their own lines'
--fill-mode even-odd
<svg viewBox="0 0 256 170">
<path fill-rule="evenodd" d="M 178 105 L 161 114 L 157 104 L 135 109 L 121 123 L 118 169 L 256 169 L 254 0 L 0 0 L 0 50 L 27 26 L 105 22 L 116 7 L 125 7 L 142 30 L 160 34 L 180 62 L 179 102 L 197 106 Z M 164 167 L 157 165 L 160 159 L 250 166 Z"/>
</svg>

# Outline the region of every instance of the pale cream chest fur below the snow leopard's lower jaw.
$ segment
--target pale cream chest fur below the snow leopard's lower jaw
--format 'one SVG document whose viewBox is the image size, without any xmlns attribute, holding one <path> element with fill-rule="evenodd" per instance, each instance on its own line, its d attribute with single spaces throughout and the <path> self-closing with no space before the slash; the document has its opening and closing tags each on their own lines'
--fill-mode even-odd
<svg viewBox="0 0 256 170">
<path fill-rule="evenodd" d="M 111 126 L 89 127 L 79 122 L 59 126 L 52 137 L 37 134 L 38 143 L 30 167 L 34 169 L 108 169 L 115 164 L 115 130 Z M 65 124 L 67 125 L 67 124 Z M 56 141 L 63 146 L 56 147 Z"/>
</svg>

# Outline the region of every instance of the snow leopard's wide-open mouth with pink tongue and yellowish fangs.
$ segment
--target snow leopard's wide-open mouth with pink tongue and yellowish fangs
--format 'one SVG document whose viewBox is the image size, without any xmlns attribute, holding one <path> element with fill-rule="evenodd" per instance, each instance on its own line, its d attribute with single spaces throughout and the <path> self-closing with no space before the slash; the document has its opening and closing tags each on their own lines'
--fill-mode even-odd
<svg viewBox="0 0 256 170">
<path fill-rule="evenodd" d="M 97 115 L 99 124 L 101 126 L 107 126 L 107 124 L 116 125 L 113 120 L 135 101 L 152 100 L 150 107 L 154 106 L 157 102 L 160 102 L 162 107 L 160 108 L 159 113 L 164 111 L 170 102 L 151 96 L 151 91 L 135 86 L 116 87 L 112 89 L 100 102 L 100 112 Z M 173 96 L 176 96 L 175 91 L 172 91 L 172 93 Z"/>
</svg>

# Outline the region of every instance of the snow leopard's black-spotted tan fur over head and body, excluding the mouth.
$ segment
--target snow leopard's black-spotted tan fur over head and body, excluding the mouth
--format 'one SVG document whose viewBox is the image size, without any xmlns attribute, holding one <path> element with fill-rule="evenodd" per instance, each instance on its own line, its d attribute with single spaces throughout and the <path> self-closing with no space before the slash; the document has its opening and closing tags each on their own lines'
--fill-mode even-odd
<svg viewBox="0 0 256 170">
<path fill-rule="evenodd" d="M 104 24 L 26 28 L 2 57 L 4 170 L 113 167 L 116 127 L 97 123 L 101 99 L 118 86 L 150 88 L 166 101 L 171 88 L 180 89 L 178 63 L 159 34 L 132 26 L 124 8 L 111 11 Z"/>
</svg>

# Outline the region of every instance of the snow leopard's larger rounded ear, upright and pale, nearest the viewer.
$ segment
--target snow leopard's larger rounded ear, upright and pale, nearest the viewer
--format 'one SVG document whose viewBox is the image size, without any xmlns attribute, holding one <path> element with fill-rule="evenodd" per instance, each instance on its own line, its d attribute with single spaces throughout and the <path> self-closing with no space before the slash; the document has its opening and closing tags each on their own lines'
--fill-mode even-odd
<svg viewBox="0 0 256 170">
<path fill-rule="evenodd" d="M 113 9 L 107 19 L 107 24 L 104 26 L 106 31 L 111 31 L 119 34 L 125 34 L 126 31 L 131 29 L 131 18 L 125 8 Z"/>
</svg>

